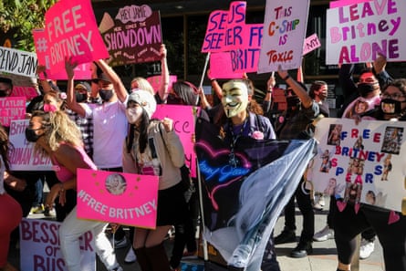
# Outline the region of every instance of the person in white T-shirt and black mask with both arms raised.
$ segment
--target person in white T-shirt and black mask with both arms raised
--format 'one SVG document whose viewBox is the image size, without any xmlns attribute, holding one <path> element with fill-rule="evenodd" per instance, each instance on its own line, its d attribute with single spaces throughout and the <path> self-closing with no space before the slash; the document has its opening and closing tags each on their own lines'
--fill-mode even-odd
<svg viewBox="0 0 406 271">
<path fill-rule="evenodd" d="M 101 69 L 99 78 L 92 79 L 93 85 L 99 86 L 101 104 L 78 102 L 74 93 L 74 72 L 76 63 L 70 58 L 65 61 L 68 74 L 68 109 L 78 113 L 81 118 L 93 120 L 93 161 L 99 170 L 122 172 L 121 144 L 127 136 L 127 119 L 125 115 L 128 98 L 120 77 L 113 68 L 102 59 L 95 63 Z M 115 247 L 125 247 L 128 239 L 120 227 L 115 233 Z M 113 242 L 113 241 L 112 241 Z"/>
</svg>

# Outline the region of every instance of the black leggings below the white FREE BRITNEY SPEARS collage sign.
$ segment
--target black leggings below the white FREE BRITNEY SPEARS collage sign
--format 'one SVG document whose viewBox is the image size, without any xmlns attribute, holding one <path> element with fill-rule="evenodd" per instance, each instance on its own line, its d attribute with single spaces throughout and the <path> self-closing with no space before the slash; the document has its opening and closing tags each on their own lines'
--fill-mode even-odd
<svg viewBox="0 0 406 271">
<path fill-rule="evenodd" d="M 337 205 L 334 208 L 334 234 L 340 263 L 351 263 L 356 236 L 372 228 L 383 248 L 385 270 L 406 271 L 406 216 L 396 213 L 399 220 L 388 224 L 390 211 L 379 207 L 361 204 L 358 214 L 355 214 L 352 203 L 347 203 L 342 212 L 338 211 Z"/>
</svg>

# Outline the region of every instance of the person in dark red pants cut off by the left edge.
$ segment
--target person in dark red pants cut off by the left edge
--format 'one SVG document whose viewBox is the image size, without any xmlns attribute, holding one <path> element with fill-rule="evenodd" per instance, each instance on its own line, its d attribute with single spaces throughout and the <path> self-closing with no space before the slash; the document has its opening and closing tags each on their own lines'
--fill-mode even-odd
<svg viewBox="0 0 406 271">
<path fill-rule="evenodd" d="M 23 211 L 19 203 L 5 192 L 5 182 L 7 180 L 6 170 L 9 170 L 8 164 L 9 141 L 7 133 L 0 125 L 0 270 L 16 271 L 14 266 L 7 263 L 8 249 L 10 246 L 10 237 L 13 230 L 20 223 L 23 217 Z"/>
</svg>

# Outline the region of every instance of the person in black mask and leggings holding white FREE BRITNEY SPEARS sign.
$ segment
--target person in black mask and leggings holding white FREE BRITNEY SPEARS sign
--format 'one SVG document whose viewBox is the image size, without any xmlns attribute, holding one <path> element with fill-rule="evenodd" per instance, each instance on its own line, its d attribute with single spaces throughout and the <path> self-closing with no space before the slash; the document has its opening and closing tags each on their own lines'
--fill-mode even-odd
<svg viewBox="0 0 406 271">
<path fill-rule="evenodd" d="M 405 121 L 406 78 L 394 79 L 382 89 L 380 105 L 371 117 L 374 120 Z M 353 203 L 349 203 L 342 212 L 334 204 L 333 219 L 335 241 L 338 252 L 338 271 L 351 268 L 351 260 L 356 251 L 356 237 L 372 229 L 379 237 L 383 248 L 385 270 L 406 270 L 406 216 L 396 212 L 399 220 L 389 223 L 394 211 L 376 205 L 360 204 L 358 213 Z M 349 221 L 351 223 L 349 223 Z"/>
</svg>

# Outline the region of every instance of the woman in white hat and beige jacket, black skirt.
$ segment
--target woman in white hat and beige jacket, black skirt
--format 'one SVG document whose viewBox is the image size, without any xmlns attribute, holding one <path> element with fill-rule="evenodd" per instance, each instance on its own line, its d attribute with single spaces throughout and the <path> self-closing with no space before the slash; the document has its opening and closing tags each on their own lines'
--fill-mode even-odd
<svg viewBox="0 0 406 271">
<path fill-rule="evenodd" d="M 170 271 L 162 242 L 186 212 L 180 171 L 184 151 L 172 120 L 151 120 L 155 109 L 150 92 L 139 89 L 130 94 L 126 109 L 130 131 L 122 160 L 124 172 L 159 176 L 156 228 L 136 227 L 132 245 L 142 271 Z"/>
</svg>

